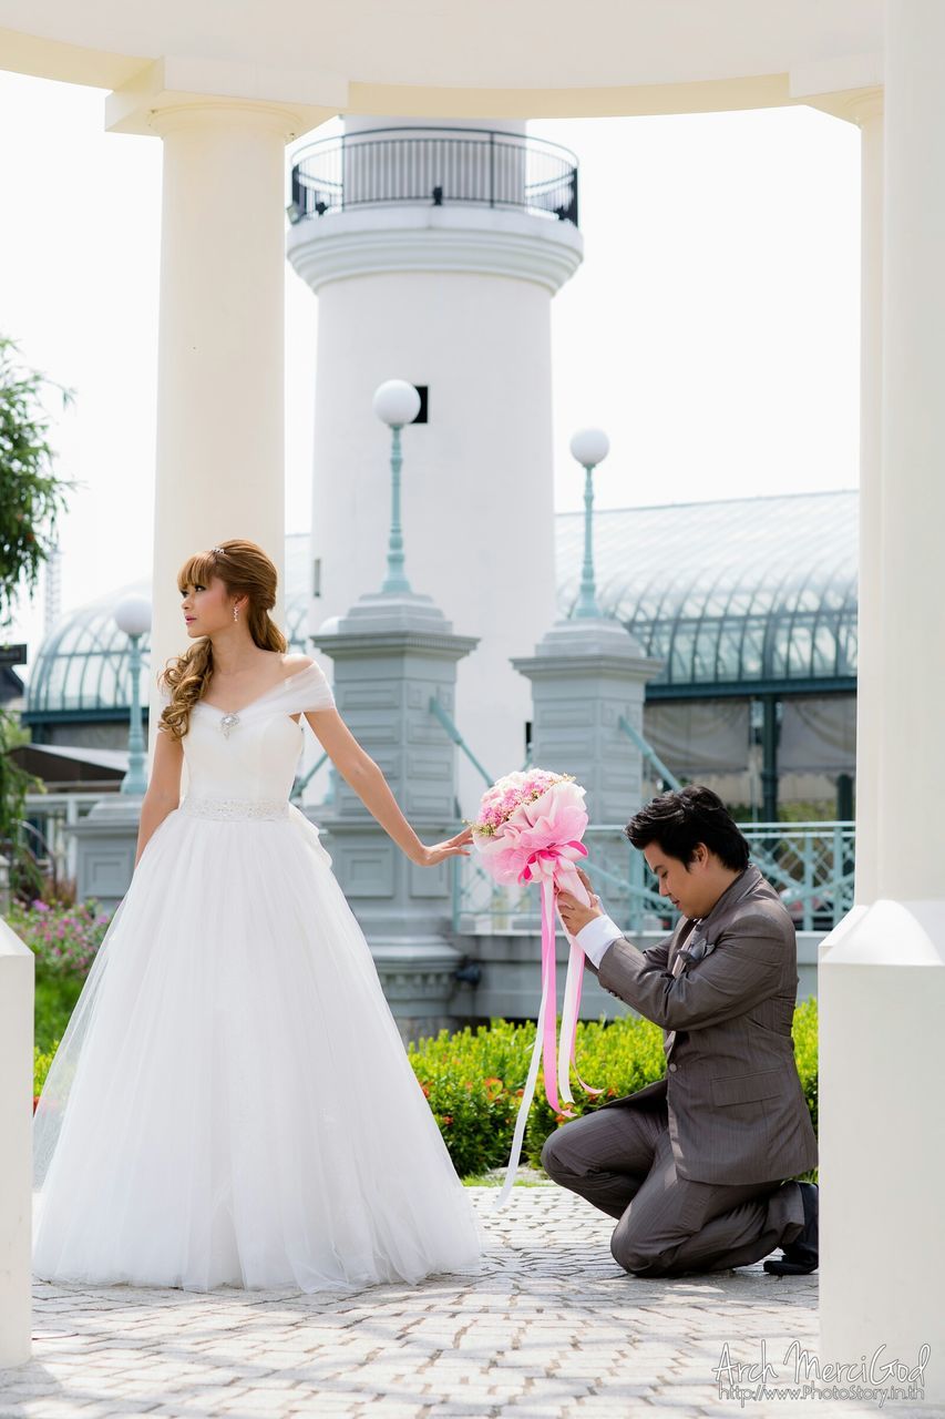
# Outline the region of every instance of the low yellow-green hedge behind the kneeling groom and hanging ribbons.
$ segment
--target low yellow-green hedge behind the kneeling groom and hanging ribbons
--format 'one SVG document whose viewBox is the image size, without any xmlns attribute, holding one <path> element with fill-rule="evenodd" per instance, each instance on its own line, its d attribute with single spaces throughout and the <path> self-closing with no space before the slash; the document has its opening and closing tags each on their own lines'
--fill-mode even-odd
<svg viewBox="0 0 945 1419">
<path fill-rule="evenodd" d="M 814 1130 L 817 1127 L 817 1002 L 805 1000 L 795 1010 L 795 1059 Z M 502 1166 L 509 1154 L 515 1114 L 528 1074 L 535 1042 L 534 1025 L 511 1025 L 494 1019 L 488 1026 L 410 1044 L 407 1053 L 420 1087 L 461 1178 Z M 663 1030 L 636 1016 L 610 1023 L 582 1022 L 578 1026 L 576 1059 L 587 1084 L 603 1088 L 587 1095 L 572 1078 L 573 1114 L 592 1111 L 609 1098 L 633 1094 L 665 1073 Z M 549 1134 L 565 1125 L 563 1114 L 549 1107 L 542 1071 L 525 1130 L 524 1161 L 541 1166 L 541 1152 Z M 799 1174 L 816 1179 L 817 1172 Z"/>
</svg>

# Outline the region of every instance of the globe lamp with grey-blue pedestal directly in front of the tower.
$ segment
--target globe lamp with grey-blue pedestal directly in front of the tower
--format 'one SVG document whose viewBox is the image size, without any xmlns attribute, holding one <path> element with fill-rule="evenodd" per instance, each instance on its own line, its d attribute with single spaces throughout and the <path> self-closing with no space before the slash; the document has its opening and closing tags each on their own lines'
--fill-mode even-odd
<svg viewBox="0 0 945 1419">
<path fill-rule="evenodd" d="M 335 661 L 335 698 L 352 734 L 383 762 L 385 778 L 419 833 L 440 841 L 455 815 L 457 759 L 443 715 L 455 714 L 457 661 L 477 646 L 454 636 L 431 596 L 410 589 L 400 529 L 400 430 L 420 394 L 402 379 L 379 385 L 375 414 L 392 430 L 387 576 L 348 614 L 325 622 L 312 643 Z M 379 712 L 389 707 L 389 712 Z M 450 874 L 424 880 L 394 853 L 387 833 L 350 785 L 338 780 L 319 810 L 333 871 L 370 944 L 404 1039 L 454 1029 L 460 951 L 447 932 Z M 444 864 L 441 864 L 444 866 Z M 430 883 L 430 885 L 426 885 Z"/>
</svg>

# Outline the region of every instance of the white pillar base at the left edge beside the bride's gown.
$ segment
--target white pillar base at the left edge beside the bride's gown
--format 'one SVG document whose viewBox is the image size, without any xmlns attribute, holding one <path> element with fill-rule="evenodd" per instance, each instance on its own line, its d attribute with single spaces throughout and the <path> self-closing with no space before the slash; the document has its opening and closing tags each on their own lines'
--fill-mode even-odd
<svg viewBox="0 0 945 1419">
<path fill-rule="evenodd" d="M 33 971 L 0 920 L 0 1369 L 31 1352 Z"/>
</svg>

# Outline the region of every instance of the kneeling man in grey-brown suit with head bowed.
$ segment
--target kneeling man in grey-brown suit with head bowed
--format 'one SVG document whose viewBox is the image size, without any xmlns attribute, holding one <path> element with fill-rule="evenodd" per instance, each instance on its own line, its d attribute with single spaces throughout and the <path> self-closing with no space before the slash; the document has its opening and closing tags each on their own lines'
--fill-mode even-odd
<svg viewBox="0 0 945 1419">
<path fill-rule="evenodd" d="M 785 1181 L 817 1164 L 790 1036 L 793 922 L 711 789 L 663 793 L 626 834 L 681 912 L 673 935 L 640 951 L 596 897 L 556 904 L 600 983 L 663 1027 L 667 1073 L 565 1124 L 542 1164 L 616 1218 L 610 1250 L 634 1276 L 748 1266 L 778 1246 L 766 1271 L 813 1271 L 817 1188 Z"/>
</svg>

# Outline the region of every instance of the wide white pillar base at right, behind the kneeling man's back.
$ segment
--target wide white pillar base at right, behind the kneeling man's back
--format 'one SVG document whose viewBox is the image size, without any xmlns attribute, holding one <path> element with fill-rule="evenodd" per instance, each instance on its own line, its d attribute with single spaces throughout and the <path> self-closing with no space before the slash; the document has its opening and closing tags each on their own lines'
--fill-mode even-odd
<svg viewBox="0 0 945 1419">
<path fill-rule="evenodd" d="M 945 902 L 854 907 L 822 945 L 819 1012 L 820 1359 L 883 1347 L 914 1368 L 928 1344 L 942 1405 Z"/>
</svg>

